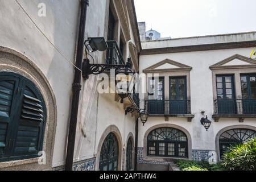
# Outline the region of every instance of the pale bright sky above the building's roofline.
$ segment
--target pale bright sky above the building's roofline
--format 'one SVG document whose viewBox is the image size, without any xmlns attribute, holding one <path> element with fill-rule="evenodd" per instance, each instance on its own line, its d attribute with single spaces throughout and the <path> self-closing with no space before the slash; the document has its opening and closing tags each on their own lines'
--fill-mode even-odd
<svg viewBox="0 0 256 182">
<path fill-rule="evenodd" d="M 138 22 L 162 38 L 256 31 L 255 0 L 134 0 Z"/>
</svg>

